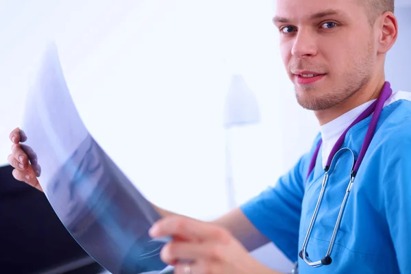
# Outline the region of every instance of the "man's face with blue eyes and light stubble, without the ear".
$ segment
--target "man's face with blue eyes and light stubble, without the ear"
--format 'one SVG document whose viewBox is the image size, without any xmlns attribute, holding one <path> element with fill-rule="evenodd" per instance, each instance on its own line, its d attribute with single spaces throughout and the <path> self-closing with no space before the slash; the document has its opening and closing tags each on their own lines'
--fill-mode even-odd
<svg viewBox="0 0 411 274">
<path fill-rule="evenodd" d="M 358 0 L 277 0 L 282 60 L 303 108 L 332 108 L 370 81 L 377 54 L 366 14 Z"/>
</svg>

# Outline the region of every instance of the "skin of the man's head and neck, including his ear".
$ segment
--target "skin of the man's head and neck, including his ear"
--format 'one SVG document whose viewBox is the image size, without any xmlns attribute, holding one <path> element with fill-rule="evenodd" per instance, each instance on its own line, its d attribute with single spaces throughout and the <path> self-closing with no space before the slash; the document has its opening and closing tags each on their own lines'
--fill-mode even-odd
<svg viewBox="0 0 411 274">
<path fill-rule="evenodd" d="M 385 82 L 385 55 L 397 39 L 394 14 L 384 12 L 371 25 L 365 5 L 342 2 L 277 1 L 281 15 L 273 19 L 297 101 L 314 110 L 320 125 L 378 97 Z M 298 84 L 296 71 L 325 76 L 314 84 Z"/>
</svg>

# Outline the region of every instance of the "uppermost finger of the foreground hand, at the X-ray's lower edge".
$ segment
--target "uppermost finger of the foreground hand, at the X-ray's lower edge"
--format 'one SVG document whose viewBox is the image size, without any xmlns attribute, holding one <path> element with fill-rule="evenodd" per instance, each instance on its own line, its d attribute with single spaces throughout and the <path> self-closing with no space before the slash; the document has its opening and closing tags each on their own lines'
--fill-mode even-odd
<svg viewBox="0 0 411 274">
<path fill-rule="evenodd" d="M 188 240 L 218 240 L 223 243 L 230 239 L 229 232 L 221 227 L 177 215 L 160 219 L 151 227 L 149 234 L 152 238 L 173 236 Z"/>
</svg>

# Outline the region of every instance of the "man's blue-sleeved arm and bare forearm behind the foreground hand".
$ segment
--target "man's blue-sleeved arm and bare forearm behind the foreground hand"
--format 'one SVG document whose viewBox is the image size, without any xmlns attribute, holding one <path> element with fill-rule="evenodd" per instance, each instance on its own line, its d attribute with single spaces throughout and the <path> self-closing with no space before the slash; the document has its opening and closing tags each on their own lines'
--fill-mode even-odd
<svg viewBox="0 0 411 274">
<path fill-rule="evenodd" d="M 289 260 L 295 262 L 298 256 L 304 175 L 312 153 L 313 149 L 303 155 L 288 173 L 279 178 L 275 186 L 210 224 L 228 231 L 247 251 L 272 241 Z M 164 217 L 179 216 L 155 208 Z"/>
</svg>

